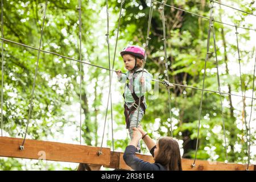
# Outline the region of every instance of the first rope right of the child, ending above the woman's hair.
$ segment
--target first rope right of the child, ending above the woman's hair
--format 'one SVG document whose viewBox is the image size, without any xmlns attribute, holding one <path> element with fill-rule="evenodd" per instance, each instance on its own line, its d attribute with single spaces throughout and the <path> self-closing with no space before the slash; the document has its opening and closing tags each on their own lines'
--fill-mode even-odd
<svg viewBox="0 0 256 182">
<path fill-rule="evenodd" d="M 167 81 L 169 82 L 169 73 L 168 73 L 168 64 L 167 64 L 167 51 L 166 51 L 166 21 L 164 19 L 164 1 L 162 1 L 162 5 L 160 6 L 160 11 L 162 15 L 162 23 L 163 23 L 163 43 L 164 43 L 164 61 L 166 66 L 166 74 L 167 74 Z M 171 119 L 171 137 L 172 135 L 172 112 L 171 112 L 171 92 L 170 92 L 170 86 L 167 86 L 168 89 L 168 101 L 169 101 L 169 114 Z"/>
</svg>

